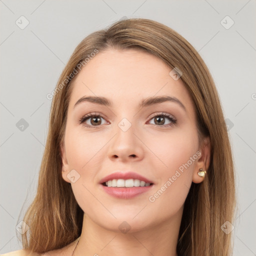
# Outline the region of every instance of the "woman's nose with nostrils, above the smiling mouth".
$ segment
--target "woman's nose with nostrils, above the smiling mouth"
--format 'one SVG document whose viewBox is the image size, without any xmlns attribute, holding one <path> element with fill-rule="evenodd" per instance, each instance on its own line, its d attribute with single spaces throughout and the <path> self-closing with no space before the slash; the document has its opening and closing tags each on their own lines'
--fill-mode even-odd
<svg viewBox="0 0 256 256">
<path fill-rule="evenodd" d="M 143 143 L 133 125 L 127 130 L 117 126 L 115 134 L 110 140 L 108 157 L 115 161 L 137 161 L 143 158 Z"/>
</svg>

